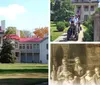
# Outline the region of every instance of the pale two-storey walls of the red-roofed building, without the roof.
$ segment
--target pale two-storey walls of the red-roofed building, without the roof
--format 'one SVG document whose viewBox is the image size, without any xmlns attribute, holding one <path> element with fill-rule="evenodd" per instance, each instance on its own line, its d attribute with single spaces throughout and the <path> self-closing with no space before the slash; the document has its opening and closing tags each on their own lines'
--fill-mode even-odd
<svg viewBox="0 0 100 85">
<path fill-rule="evenodd" d="M 38 42 L 20 42 L 15 40 L 13 50 L 17 63 L 48 63 L 48 38 Z"/>
</svg>

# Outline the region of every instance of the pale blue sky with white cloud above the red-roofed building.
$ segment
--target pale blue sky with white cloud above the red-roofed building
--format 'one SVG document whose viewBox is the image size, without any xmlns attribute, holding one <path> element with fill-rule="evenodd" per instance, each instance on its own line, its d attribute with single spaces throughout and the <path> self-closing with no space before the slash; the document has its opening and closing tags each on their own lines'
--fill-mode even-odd
<svg viewBox="0 0 100 85">
<path fill-rule="evenodd" d="M 6 27 L 33 31 L 49 26 L 49 0 L 0 0 L 0 20 Z"/>
</svg>

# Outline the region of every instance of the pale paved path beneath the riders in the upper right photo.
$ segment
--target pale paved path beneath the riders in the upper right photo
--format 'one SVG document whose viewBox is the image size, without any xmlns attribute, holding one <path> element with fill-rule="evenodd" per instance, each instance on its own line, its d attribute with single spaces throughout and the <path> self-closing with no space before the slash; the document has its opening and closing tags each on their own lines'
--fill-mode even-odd
<svg viewBox="0 0 100 85">
<path fill-rule="evenodd" d="M 82 42 L 83 37 L 84 37 L 83 32 L 84 32 L 84 29 L 82 28 L 82 30 L 79 33 L 79 37 L 77 41 L 67 41 L 67 32 L 66 32 L 66 33 L 63 33 L 61 36 L 59 36 L 54 42 Z"/>
</svg>

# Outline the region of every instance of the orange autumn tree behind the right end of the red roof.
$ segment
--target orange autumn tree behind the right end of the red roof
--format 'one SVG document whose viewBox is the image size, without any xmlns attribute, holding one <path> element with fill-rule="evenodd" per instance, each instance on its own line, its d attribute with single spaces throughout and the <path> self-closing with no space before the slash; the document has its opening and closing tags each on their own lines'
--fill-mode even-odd
<svg viewBox="0 0 100 85">
<path fill-rule="evenodd" d="M 48 34 L 48 27 L 44 28 L 36 28 L 33 32 L 37 37 L 44 38 L 46 34 Z"/>
</svg>

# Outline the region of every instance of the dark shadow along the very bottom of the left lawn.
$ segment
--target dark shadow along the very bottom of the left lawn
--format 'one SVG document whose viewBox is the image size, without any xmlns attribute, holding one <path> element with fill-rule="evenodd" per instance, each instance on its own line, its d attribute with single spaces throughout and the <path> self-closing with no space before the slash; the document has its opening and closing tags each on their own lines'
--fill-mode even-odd
<svg viewBox="0 0 100 85">
<path fill-rule="evenodd" d="M 48 82 L 46 78 L 9 78 L 0 79 L 0 85 L 37 85 Z"/>
</svg>

